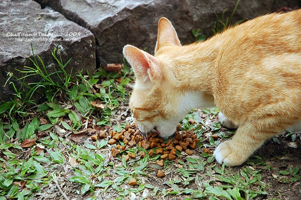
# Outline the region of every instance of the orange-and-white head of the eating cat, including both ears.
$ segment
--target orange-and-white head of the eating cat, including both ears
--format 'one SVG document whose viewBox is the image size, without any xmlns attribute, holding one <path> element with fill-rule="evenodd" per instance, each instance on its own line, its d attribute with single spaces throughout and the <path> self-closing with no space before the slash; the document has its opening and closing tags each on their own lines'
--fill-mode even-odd
<svg viewBox="0 0 301 200">
<path fill-rule="evenodd" d="M 134 69 L 134 84 L 130 108 L 135 123 L 143 133 L 156 130 L 161 137 L 172 135 L 179 121 L 186 115 L 183 93 L 177 87 L 173 61 L 168 49 L 181 43 L 167 18 L 158 23 L 155 56 L 131 45 L 123 48 L 124 57 Z"/>
</svg>

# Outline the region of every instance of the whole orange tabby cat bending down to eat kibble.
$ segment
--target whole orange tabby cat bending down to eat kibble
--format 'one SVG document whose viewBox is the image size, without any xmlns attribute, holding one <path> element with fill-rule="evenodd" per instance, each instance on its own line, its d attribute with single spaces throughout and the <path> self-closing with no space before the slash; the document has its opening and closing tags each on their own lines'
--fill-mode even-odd
<svg viewBox="0 0 301 200">
<path fill-rule="evenodd" d="M 134 68 L 130 107 L 143 133 L 167 137 L 191 109 L 217 106 L 221 123 L 238 129 L 214 156 L 237 166 L 266 139 L 301 130 L 301 10 L 185 46 L 161 18 L 154 56 L 131 45 L 123 53 Z"/>
</svg>

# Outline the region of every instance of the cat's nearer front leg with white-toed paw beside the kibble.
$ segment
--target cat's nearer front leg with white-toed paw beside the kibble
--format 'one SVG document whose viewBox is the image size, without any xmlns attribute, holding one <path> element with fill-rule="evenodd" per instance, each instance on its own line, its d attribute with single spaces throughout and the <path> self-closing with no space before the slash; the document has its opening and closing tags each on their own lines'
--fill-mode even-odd
<svg viewBox="0 0 301 200">
<path fill-rule="evenodd" d="M 213 155 L 220 164 L 239 166 L 262 146 L 266 139 L 276 134 L 258 131 L 251 123 L 246 123 L 237 129 L 232 140 L 218 145 Z"/>
</svg>

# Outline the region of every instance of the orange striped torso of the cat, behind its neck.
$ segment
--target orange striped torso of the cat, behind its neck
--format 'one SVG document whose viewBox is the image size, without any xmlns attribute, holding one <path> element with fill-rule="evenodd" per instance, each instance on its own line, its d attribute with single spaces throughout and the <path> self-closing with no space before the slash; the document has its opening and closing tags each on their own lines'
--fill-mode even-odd
<svg viewBox="0 0 301 200">
<path fill-rule="evenodd" d="M 243 111 L 248 118 L 275 105 L 294 105 L 296 114 L 301 113 L 301 10 L 257 17 L 214 39 L 222 41 L 218 107 Z"/>
</svg>

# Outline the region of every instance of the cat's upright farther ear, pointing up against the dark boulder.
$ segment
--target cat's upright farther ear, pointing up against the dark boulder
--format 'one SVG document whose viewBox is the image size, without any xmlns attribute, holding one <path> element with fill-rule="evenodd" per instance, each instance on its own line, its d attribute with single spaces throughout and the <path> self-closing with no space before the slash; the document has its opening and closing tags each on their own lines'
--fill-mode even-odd
<svg viewBox="0 0 301 200">
<path fill-rule="evenodd" d="M 155 53 L 160 49 L 160 47 L 166 44 L 182 46 L 177 32 L 173 28 L 171 22 L 167 18 L 162 17 L 158 22 L 158 38 Z"/>
</svg>

